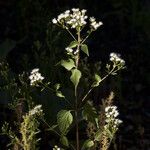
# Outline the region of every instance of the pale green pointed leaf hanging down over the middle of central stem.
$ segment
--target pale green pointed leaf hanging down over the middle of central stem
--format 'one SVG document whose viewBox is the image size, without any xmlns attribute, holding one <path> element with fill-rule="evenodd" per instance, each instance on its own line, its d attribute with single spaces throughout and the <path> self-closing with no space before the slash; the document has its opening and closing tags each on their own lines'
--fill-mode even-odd
<svg viewBox="0 0 150 150">
<path fill-rule="evenodd" d="M 71 70 L 71 72 L 72 75 L 70 77 L 70 80 L 74 84 L 74 86 L 77 87 L 81 78 L 81 72 L 78 69 L 73 69 Z"/>
</svg>

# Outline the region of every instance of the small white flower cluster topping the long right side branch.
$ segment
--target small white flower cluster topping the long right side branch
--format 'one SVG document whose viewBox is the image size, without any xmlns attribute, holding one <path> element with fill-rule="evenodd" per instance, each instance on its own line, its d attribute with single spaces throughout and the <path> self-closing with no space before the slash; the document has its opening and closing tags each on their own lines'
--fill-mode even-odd
<svg viewBox="0 0 150 150">
<path fill-rule="evenodd" d="M 114 52 L 110 53 L 110 61 L 125 65 L 125 61 L 121 59 L 120 56 L 121 56 L 120 54 Z"/>
</svg>

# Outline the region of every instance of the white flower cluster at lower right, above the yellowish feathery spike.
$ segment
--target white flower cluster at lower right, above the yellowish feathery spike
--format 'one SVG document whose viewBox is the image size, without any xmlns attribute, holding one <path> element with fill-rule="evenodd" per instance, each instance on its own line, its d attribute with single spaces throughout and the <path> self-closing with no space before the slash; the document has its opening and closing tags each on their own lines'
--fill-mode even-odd
<svg viewBox="0 0 150 150">
<path fill-rule="evenodd" d="M 108 106 L 105 108 L 105 115 L 106 115 L 106 125 L 104 126 L 105 129 L 112 127 L 113 129 L 117 130 L 118 126 L 122 123 L 122 120 L 117 119 L 116 117 L 119 115 L 117 110 L 117 106 Z"/>
</svg>

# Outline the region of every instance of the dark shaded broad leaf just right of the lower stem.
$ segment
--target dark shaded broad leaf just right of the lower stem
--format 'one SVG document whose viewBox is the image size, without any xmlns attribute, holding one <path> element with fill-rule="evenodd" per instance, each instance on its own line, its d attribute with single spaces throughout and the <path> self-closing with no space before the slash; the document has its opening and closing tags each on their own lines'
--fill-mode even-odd
<svg viewBox="0 0 150 150">
<path fill-rule="evenodd" d="M 96 109 L 90 101 L 87 101 L 82 111 L 83 118 L 87 121 L 95 123 L 95 119 L 98 117 Z"/>
</svg>

